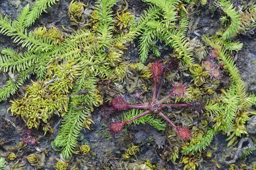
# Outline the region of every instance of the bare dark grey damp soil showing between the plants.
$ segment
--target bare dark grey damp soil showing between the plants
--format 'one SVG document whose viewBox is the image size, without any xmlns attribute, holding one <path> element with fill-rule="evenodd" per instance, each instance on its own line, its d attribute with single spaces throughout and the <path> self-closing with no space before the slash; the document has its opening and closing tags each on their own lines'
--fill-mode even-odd
<svg viewBox="0 0 256 170">
<path fill-rule="evenodd" d="M 33 30 L 39 26 L 48 26 L 49 24 L 54 24 L 58 28 L 61 26 L 69 27 L 70 20 L 68 19 L 68 6 L 71 0 L 60 0 L 57 4 L 52 5 L 52 8 L 47 8 L 47 13 L 43 12 L 41 17 L 36 20 L 35 24 L 29 28 Z M 84 1 L 84 0 L 81 0 Z M 96 0 L 90 1 L 90 5 Z M 32 4 L 33 0 L 0 0 L 0 14 L 9 17 L 14 20 L 19 14 L 20 10 L 26 4 Z M 128 10 L 131 13 L 138 17 L 143 10 L 147 8 L 147 4 L 143 3 L 141 0 L 127 0 L 129 7 Z M 84 2 L 85 4 L 87 3 Z M 198 20 L 198 25 L 195 30 L 190 32 L 188 37 L 193 39 L 198 35 L 202 34 L 213 34 L 220 25 L 218 19 L 221 16 L 218 13 L 218 10 L 212 8 L 213 1 L 209 0 L 207 6 L 199 7 L 197 12 L 192 16 L 195 20 Z M 241 5 L 241 1 L 237 1 L 237 6 Z M 118 8 L 115 6 L 114 8 Z M 192 18 L 191 18 L 192 19 Z M 256 94 L 256 37 L 255 35 L 239 35 L 237 40 L 244 43 L 244 48 L 238 53 L 234 53 L 233 57 L 236 59 L 236 64 L 239 68 L 239 73 L 244 79 L 246 89 L 248 92 Z M 158 44 L 163 45 L 163 44 Z M 139 61 L 138 57 L 138 42 L 134 42 L 129 45 L 129 50 L 125 52 L 125 57 L 129 59 L 134 59 Z M 13 48 L 18 51 L 20 49 L 19 45 L 14 44 L 10 37 L 3 36 L 0 34 L 0 50 L 3 48 Z M 162 50 L 161 51 L 163 58 L 164 55 L 172 53 L 172 50 Z M 149 57 L 147 62 L 153 61 L 153 57 Z M 0 73 L 0 87 L 5 85 L 6 81 L 9 79 L 8 74 L 3 72 Z M 32 79 L 35 79 L 35 77 Z M 24 86 L 29 84 L 29 80 L 26 81 Z M 22 91 L 21 89 L 19 92 Z M 132 98 L 131 95 L 127 97 Z M 14 117 L 11 113 L 7 113 L 7 109 L 11 106 L 9 100 L 17 98 L 17 95 L 14 95 L 5 101 L 0 102 L 0 140 L 3 140 L 4 145 L 0 146 L 0 153 L 5 153 L 10 151 L 11 147 L 17 147 L 17 143 L 21 142 L 23 137 L 26 136 L 25 123 L 19 117 Z M 133 99 L 130 99 L 131 101 Z M 161 158 L 163 154 L 163 147 L 166 146 L 166 133 L 156 130 L 150 125 L 131 125 L 125 129 L 124 133 L 119 133 L 118 135 L 112 135 L 108 131 L 108 125 L 112 122 L 112 119 L 121 119 L 117 114 L 116 116 L 111 117 L 110 119 L 105 119 L 104 116 L 100 113 L 100 108 L 94 108 L 95 110 L 92 113 L 92 119 L 94 124 L 90 126 L 90 130 L 83 129 L 79 135 L 79 145 L 89 144 L 91 150 L 90 159 L 84 161 L 79 158 L 79 156 L 74 155 L 73 161 L 79 161 L 79 167 L 81 170 L 104 170 L 110 164 L 110 160 L 120 159 L 122 153 L 125 152 L 125 149 L 131 145 L 131 143 L 139 146 L 140 151 L 136 154 L 137 160 L 149 159 L 151 164 L 158 164 L 158 168 L 161 170 L 161 167 L 165 167 L 166 170 L 182 170 L 183 167 L 178 164 L 173 164 L 167 162 Z M 117 118 L 116 118 L 117 117 Z M 27 146 L 23 149 L 22 152 L 18 153 L 18 158 L 20 161 L 25 161 L 26 170 L 34 170 L 25 159 L 24 156 L 28 156 L 31 153 L 35 153 L 37 150 L 45 148 L 48 153 L 46 156 L 45 167 L 42 170 L 54 170 L 53 164 L 55 164 L 55 158 L 60 156 L 61 152 L 54 151 L 51 146 L 51 142 L 54 140 L 55 136 L 58 134 L 58 128 L 60 125 L 61 118 L 58 116 L 53 116 L 51 119 L 51 125 L 54 127 L 54 133 L 47 133 L 44 136 L 44 132 L 41 128 L 38 130 L 32 130 L 31 135 L 38 139 L 38 144 L 33 146 Z M 250 134 L 252 138 L 255 139 L 255 134 Z M 227 136 L 219 133 L 213 139 L 209 149 L 205 151 L 212 152 L 212 157 L 207 159 L 206 156 L 203 156 L 204 161 L 201 162 L 201 166 L 197 167 L 199 170 L 211 170 L 216 168 L 214 161 L 218 160 L 221 164 L 222 169 L 227 169 L 229 166 L 224 164 L 222 157 L 224 154 L 232 154 L 230 149 L 227 148 L 227 141 L 225 139 Z M 213 147 L 217 147 L 216 150 L 212 150 Z M 236 146 L 234 146 L 236 147 Z M 204 154 L 205 154 L 204 153 Z M 252 161 L 255 158 L 255 153 L 251 154 L 247 158 L 247 162 Z M 238 160 L 239 162 L 240 160 Z M 255 161 L 255 160 L 254 160 Z M 90 162 L 88 164 L 88 162 Z M 239 164 L 239 163 L 237 163 Z M 241 162 L 240 162 L 241 164 Z"/>
</svg>

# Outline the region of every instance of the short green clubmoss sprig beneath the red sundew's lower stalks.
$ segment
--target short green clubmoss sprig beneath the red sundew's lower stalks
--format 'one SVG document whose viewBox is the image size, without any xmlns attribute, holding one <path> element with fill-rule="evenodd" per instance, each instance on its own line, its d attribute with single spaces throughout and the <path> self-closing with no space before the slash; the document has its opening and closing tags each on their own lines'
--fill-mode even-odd
<svg viewBox="0 0 256 170">
<path fill-rule="evenodd" d="M 131 119 L 143 112 L 144 112 L 143 110 L 132 109 L 128 111 L 128 113 L 124 113 L 124 116 L 122 117 L 122 121 Z M 134 125 L 138 125 L 140 123 L 142 124 L 148 123 L 149 125 L 154 126 L 154 128 L 156 128 L 157 130 L 165 130 L 166 128 L 166 122 L 163 121 L 162 119 L 155 118 L 154 114 L 147 114 L 145 116 L 142 116 L 138 119 L 133 120 L 132 122 L 134 123 Z"/>
</svg>

